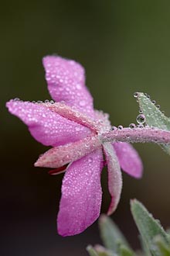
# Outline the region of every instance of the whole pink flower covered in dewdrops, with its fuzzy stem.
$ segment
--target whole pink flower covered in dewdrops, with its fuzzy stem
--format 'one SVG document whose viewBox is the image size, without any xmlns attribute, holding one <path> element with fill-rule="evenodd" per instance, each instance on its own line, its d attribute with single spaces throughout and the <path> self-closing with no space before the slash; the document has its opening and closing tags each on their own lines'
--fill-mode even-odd
<svg viewBox="0 0 170 256">
<path fill-rule="evenodd" d="M 7 107 L 26 123 L 32 137 L 52 146 L 35 166 L 55 168 L 54 173 L 66 171 L 57 227 L 60 235 L 70 236 L 83 232 L 100 215 L 100 174 L 104 165 L 111 195 L 108 214 L 117 208 L 121 196 L 121 168 L 134 178 L 141 177 L 141 159 L 124 141 L 153 141 L 158 134 L 153 130 L 149 133 L 149 128 L 111 130 L 108 115 L 93 109 L 93 98 L 85 86 L 80 64 L 49 56 L 43 58 L 43 65 L 55 103 L 14 99 L 7 102 Z M 166 142 L 165 134 L 163 138 L 160 134 L 159 139 Z"/>
</svg>

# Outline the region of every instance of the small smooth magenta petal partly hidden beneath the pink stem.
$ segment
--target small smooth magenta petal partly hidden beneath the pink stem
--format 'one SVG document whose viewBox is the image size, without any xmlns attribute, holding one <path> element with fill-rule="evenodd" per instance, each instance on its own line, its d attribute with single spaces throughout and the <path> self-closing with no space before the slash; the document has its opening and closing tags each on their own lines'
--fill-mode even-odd
<svg viewBox="0 0 170 256">
<path fill-rule="evenodd" d="M 138 152 L 134 147 L 125 142 L 117 142 L 114 143 L 113 146 L 122 170 L 134 178 L 141 178 L 143 164 L 141 157 L 139 157 Z"/>
</svg>

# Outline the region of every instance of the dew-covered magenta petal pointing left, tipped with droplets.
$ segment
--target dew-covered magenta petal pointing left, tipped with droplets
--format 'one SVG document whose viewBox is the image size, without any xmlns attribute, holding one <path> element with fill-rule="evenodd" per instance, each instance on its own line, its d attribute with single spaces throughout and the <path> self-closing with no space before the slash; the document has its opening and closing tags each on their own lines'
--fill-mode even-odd
<svg viewBox="0 0 170 256">
<path fill-rule="evenodd" d="M 49 110 L 41 103 L 7 102 L 8 111 L 22 119 L 36 140 L 46 146 L 59 146 L 81 140 L 90 130 Z"/>
</svg>

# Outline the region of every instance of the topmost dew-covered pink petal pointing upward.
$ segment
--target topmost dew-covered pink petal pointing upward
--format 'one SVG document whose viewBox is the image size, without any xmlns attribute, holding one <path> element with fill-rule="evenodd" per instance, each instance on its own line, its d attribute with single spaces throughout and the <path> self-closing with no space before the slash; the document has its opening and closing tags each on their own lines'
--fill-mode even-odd
<svg viewBox="0 0 170 256">
<path fill-rule="evenodd" d="M 44 57 L 43 66 L 49 93 L 56 102 L 64 101 L 93 117 L 93 98 L 85 86 L 85 72 L 76 61 L 59 56 Z"/>
</svg>

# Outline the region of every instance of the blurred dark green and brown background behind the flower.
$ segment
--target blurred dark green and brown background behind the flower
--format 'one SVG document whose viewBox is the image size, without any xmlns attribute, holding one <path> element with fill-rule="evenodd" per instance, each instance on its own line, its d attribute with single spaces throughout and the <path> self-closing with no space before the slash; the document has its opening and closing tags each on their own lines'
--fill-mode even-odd
<svg viewBox="0 0 170 256">
<path fill-rule="evenodd" d="M 59 54 L 79 61 L 97 109 L 118 126 L 134 123 L 134 92 L 147 92 L 170 115 L 170 2 L 135 0 L 11 1 L 0 9 L 1 27 L 1 243 L 0 255 L 87 255 L 100 243 L 97 223 L 75 237 L 56 234 L 63 175 L 34 168 L 46 150 L 5 109 L 8 99 L 50 99 L 42 57 Z M 141 180 L 124 174 L 121 202 L 113 220 L 134 248 L 138 231 L 129 200 L 137 198 L 164 227 L 170 226 L 170 157 L 158 146 L 135 145 L 144 161 Z M 109 204 L 106 170 L 104 200 Z"/>
</svg>

